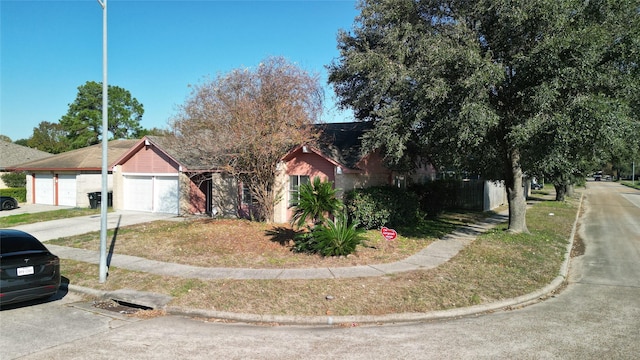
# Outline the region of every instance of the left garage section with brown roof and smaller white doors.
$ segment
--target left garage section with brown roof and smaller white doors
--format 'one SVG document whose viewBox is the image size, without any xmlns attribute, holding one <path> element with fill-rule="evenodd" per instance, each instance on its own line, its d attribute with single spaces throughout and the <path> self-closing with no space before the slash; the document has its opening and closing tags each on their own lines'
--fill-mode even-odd
<svg viewBox="0 0 640 360">
<path fill-rule="evenodd" d="M 108 160 L 118 159 L 136 142 L 109 141 Z M 102 190 L 102 144 L 21 163 L 10 170 L 27 173 L 27 203 L 89 207 L 88 193 Z M 113 190 L 111 178 L 108 174 L 109 191 Z"/>
</svg>

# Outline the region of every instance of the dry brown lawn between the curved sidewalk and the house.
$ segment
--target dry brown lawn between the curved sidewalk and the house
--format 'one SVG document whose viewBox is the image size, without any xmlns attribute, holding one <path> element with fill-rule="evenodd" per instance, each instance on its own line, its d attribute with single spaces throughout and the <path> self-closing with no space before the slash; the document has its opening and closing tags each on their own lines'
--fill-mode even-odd
<svg viewBox="0 0 640 360">
<path fill-rule="evenodd" d="M 340 267 L 393 262 L 404 259 L 461 224 L 486 216 L 479 213 L 449 213 L 425 222 L 423 229 L 386 240 L 379 231 L 366 233 L 354 254 L 345 257 L 292 251 L 294 230 L 288 224 L 248 220 L 183 219 L 155 221 L 110 232 L 110 249 L 117 254 L 203 267 L 302 268 Z M 99 249 L 97 234 L 85 234 L 52 243 L 83 249 Z"/>
</svg>

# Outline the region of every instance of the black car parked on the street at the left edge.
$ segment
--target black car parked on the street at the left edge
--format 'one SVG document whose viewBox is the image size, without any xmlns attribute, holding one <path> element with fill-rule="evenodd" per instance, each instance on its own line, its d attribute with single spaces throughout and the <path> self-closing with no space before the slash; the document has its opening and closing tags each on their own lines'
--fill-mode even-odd
<svg viewBox="0 0 640 360">
<path fill-rule="evenodd" d="M 60 259 L 24 231 L 0 229 L 0 305 L 48 298 L 60 287 Z"/>
</svg>

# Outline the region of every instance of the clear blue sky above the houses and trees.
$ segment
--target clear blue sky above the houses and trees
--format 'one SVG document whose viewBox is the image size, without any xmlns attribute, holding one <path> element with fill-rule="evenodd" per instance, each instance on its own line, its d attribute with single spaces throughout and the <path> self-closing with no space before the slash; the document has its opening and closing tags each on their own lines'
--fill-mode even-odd
<svg viewBox="0 0 640 360">
<path fill-rule="evenodd" d="M 141 125 L 166 128 L 189 84 L 283 56 L 325 85 L 327 122 L 351 121 L 335 106 L 325 66 L 356 0 L 108 0 L 108 83 L 145 108 Z M 96 0 L 0 0 L 0 134 L 28 138 L 58 122 L 78 86 L 102 81 L 102 8 Z"/>
</svg>

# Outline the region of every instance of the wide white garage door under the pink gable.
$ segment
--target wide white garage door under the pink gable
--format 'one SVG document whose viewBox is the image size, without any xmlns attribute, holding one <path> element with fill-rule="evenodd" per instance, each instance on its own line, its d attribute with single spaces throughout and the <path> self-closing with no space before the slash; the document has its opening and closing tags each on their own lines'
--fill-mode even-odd
<svg viewBox="0 0 640 360">
<path fill-rule="evenodd" d="M 127 210 L 178 214 L 177 176 L 126 175 L 124 189 Z"/>
</svg>

